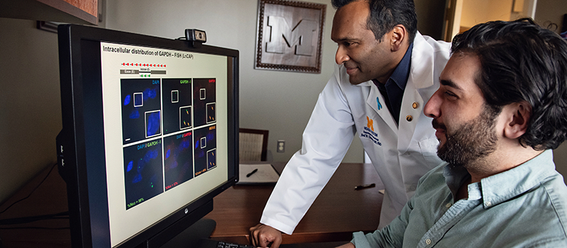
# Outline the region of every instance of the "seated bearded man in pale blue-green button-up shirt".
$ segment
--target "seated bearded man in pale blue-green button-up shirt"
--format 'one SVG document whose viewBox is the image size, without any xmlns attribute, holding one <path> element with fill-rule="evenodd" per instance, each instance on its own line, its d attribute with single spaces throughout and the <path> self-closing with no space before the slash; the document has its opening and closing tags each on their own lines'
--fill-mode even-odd
<svg viewBox="0 0 567 248">
<path fill-rule="evenodd" d="M 438 155 L 387 227 L 344 247 L 567 247 L 567 42 L 531 20 L 457 35 L 433 118 Z"/>
</svg>

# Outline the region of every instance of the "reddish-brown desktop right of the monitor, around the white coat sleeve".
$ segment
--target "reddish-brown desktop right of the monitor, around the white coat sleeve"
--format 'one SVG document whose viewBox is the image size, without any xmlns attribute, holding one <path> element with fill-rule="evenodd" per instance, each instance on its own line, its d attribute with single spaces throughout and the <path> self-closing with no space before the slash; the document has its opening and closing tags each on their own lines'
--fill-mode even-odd
<svg viewBox="0 0 567 248">
<path fill-rule="evenodd" d="M 272 163 L 280 171 L 285 163 Z M 355 191 L 362 184 L 374 188 Z M 249 227 L 259 223 L 274 186 L 237 185 L 214 198 L 213 212 L 205 218 L 217 222 L 211 238 L 247 243 Z M 283 244 L 349 241 L 352 232 L 371 232 L 378 227 L 383 184 L 371 164 L 341 164 L 305 214 L 293 235 L 283 235 Z"/>
</svg>

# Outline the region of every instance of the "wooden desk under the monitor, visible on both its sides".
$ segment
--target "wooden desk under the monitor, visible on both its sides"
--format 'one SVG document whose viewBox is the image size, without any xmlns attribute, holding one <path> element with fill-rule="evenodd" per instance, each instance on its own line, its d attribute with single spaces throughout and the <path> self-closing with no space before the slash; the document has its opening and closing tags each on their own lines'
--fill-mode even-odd
<svg viewBox="0 0 567 248">
<path fill-rule="evenodd" d="M 275 163 L 281 171 L 284 163 Z M 43 171 L 0 206 L 28 196 L 49 172 Z M 376 184 L 375 188 L 354 191 L 354 186 Z M 211 238 L 225 242 L 248 242 L 248 229 L 257 225 L 274 186 L 233 186 L 213 200 L 214 210 L 206 218 L 217 226 Z M 342 164 L 318 196 L 293 235 L 283 235 L 283 243 L 348 241 L 352 232 L 373 231 L 378 227 L 383 185 L 371 164 Z M 0 219 L 47 215 L 67 211 L 67 188 L 55 168 L 47 180 L 30 196 L 16 203 Z M 40 227 L 62 229 L 6 229 Z M 65 229 L 67 228 L 67 229 Z M 0 226 L 4 248 L 71 247 L 69 220 L 42 220 L 22 225 Z"/>
</svg>

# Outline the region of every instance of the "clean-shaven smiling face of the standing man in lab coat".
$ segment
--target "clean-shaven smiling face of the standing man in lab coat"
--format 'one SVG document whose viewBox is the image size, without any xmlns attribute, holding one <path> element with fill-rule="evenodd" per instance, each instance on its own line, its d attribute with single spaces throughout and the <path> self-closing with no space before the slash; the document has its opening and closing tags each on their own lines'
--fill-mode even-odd
<svg viewBox="0 0 567 248">
<path fill-rule="evenodd" d="M 376 40 L 366 27 L 369 13 L 366 1 L 354 1 L 339 9 L 332 21 L 331 39 L 338 45 L 335 62 L 344 64 L 351 84 L 371 79 L 386 83 L 399 62 L 391 52 L 392 31 L 381 42 Z"/>
</svg>

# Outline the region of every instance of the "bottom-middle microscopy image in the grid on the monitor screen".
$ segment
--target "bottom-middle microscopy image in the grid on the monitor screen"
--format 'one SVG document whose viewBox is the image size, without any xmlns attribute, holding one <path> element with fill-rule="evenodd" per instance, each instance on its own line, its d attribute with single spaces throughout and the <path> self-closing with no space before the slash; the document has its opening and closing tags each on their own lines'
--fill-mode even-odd
<svg viewBox="0 0 567 248">
<path fill-rule="evenodd" d="M 165 190 L 193 179 L 193 133 L 164 137 Z"/>
</svg>

